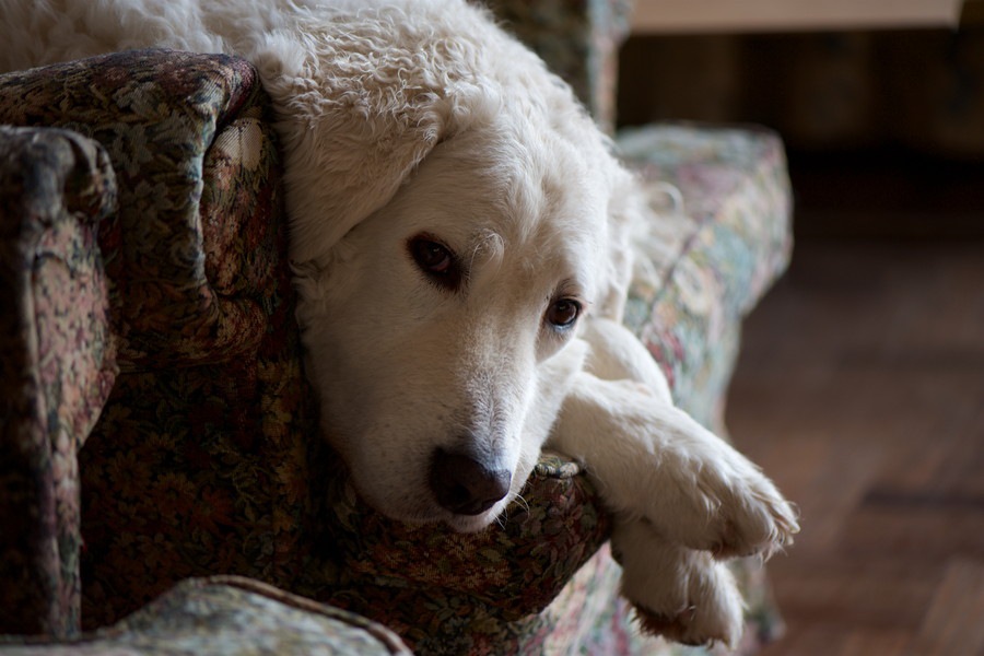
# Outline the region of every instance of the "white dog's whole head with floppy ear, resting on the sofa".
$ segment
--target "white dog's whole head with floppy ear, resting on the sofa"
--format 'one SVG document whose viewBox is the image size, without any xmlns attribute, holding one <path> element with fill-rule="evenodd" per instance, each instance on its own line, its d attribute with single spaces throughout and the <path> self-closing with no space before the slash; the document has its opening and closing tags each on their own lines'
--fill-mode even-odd
<svg viewBox="0 0 984 656">
<path fill-rule="evenodd" d="M 476 530 L 536 462 L 585 354 L 579 323 L 619 312 L 632 181 L 570 89 L 484 14 L 390 14 L 319 26 L 300 72 L 282 54 L 266 72 L 289 109 L 298 318 L 361 494 Z"/>
</svg>

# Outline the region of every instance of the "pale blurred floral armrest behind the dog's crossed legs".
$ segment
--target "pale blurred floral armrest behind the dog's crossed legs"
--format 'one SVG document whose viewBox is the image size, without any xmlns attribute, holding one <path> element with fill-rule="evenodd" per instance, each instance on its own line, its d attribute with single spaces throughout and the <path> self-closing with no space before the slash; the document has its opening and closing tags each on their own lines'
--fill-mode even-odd
<svg viewBox="0 0 984 656">
<path fill-rule="evenodd" d="M 764 129 L 670 124 L 624 130 L 618 145 L 660 214 L 645 246 L 656 284 L 637 278 L 625 324 L 663 365 L 676 402 L 725 434 L 741 319 L 792 253 L 782 141 Z"/>
</svg>

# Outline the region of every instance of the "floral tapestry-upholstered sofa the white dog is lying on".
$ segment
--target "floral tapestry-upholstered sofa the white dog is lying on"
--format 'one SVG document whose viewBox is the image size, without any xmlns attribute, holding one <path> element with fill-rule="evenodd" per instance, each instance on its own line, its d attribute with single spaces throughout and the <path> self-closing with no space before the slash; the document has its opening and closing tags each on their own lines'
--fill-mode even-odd
<svg viewBox="0 0 984 656">
<path fill-rule="evenodd" d="M 567 74 L 604 95 L 591 70 Z M 618 598 L 610 516 L 561 454 L 480 534 L 358 497 L 318 434 L 248 62 L 140 50 L 9 73 L 0 125 L 0 651 L 676 648 Z M 619 142 L 663 218 L 660 282 L 634 285 L 626 323 L 724 434 L 741 317 L 789 257 L 782 144 L 687 125 Z M 761 566 L 735 570 L 751 651 L 781 623 Z"/>
</svg>

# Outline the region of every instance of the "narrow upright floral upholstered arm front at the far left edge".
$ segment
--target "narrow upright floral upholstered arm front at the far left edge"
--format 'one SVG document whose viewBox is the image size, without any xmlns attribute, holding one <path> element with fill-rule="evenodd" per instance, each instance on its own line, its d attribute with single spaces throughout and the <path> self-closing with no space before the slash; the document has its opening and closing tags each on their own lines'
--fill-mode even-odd
<svg viewBox="0 0 984 656">
<path fill-rule="evenodd" d="M 77 450 L 116 375 L 95 233 L 115 201 L 95 142 L 0 127 L 0 633 L 78 626 Z"/>
</svg>

